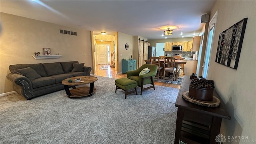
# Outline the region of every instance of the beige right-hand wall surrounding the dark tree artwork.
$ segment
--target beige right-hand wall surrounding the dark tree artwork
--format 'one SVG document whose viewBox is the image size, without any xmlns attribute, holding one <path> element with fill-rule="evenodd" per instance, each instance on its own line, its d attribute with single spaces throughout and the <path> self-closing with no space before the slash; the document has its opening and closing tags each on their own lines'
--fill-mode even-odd
<svg viewBox="0 0 256 144">
<path fill-rule="evenodd" d="M 226 104 L 231 120 L 222 120 L 221 132 L 227 136 L 248 136 L 256 142 L 256 1 L 216 1 L 211 17 L 218 10 L 216 31 L 210 57 L 208 79 Z M 244 41 L 234 70 L 215 62 L 218 35 L 243 18 L 248 18 Z M 238 138 L 236 140 L 239 140 Z M 233 142 L 238 143 L 238 142 Z"/>
</svg>

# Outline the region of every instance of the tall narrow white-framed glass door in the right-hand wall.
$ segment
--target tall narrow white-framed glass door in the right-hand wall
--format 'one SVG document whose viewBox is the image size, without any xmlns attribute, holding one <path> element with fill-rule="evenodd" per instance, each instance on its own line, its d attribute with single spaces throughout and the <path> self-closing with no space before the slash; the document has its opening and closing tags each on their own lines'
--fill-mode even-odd
<svg viewBox="0 0 256 144">
<path fill-rule="evenodd" d="M 202 76 L 204 78 L 207 78 L 207 73 L 208 73 L 208 69 L 209 69 L 209 64 L 210 64 L 210 53 L 211 53 L 211 49 L 212 49 L 212 40 L 214 39 L 214 29 L 215 29 L 215 24 L 216 24 L 216 20 L 217 20 L 217 13 L 218 11 L 214 14 L 214 16 L 212 17 L 210 24 L 209 24 L 209 30 L 208 30 L 208 38 L 207 38 L 207 45 L 206 45 L 206 51 L 205 51 L 205 55 L 204 55 L 204 65 L 203 67 L 203 71 L 202 71 Z"/>
</svg>

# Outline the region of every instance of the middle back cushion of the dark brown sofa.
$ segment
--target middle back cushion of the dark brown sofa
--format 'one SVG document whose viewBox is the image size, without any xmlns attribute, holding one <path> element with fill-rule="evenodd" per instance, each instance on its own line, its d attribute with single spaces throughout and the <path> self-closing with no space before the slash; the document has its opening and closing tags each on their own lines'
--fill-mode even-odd
<svg viewBox="0 0 256 144">
<path fill-rule="evenodd" d="M 44 70 L 47 73 L 47 76 L 52 76 L 55 74 L 64 74 L 60 62 L 44 63 L 43 66 Z"/>
</svg>

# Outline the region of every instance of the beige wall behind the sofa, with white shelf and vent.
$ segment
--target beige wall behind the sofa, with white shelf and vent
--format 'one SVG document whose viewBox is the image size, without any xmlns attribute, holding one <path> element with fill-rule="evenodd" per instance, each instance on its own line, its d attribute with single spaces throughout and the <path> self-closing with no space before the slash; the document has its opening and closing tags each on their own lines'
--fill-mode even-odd
<svg viewBox="0 0 256 144">
<path fill-rule="evenodd" d="M 90 31 L 70 28 L 11 14 L 1 14 L 1 89 L 0 93 L 13 91 L 6 78 L 11 64 L 36 64 L 78 60 L 92 67 Z M 60 29 L 77 32 L 77 36 L 60 34 Z M 34 52 L 43 54 L 42 48 L 51 48 L 56 59 L 34 59 Z M 84 55 L 86 57 L 84 57 Z"/>
</svg>

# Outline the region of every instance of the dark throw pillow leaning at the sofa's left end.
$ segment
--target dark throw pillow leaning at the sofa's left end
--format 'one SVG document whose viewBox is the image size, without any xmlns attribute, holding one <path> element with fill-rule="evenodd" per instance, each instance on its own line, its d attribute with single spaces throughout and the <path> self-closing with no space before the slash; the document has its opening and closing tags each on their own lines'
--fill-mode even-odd
<svg viewBox="0 0 256 144">
<path fill-rule="evenodd" d="M 36 78 L 41 78 L 41 76 L 36 73 L 36 71 L 33 68 L 27 67 L 15 70 L 18 74 L 21 74 L 22 76 L 26 76 L 29 80 L 34 80 Z"/>
</svg>

